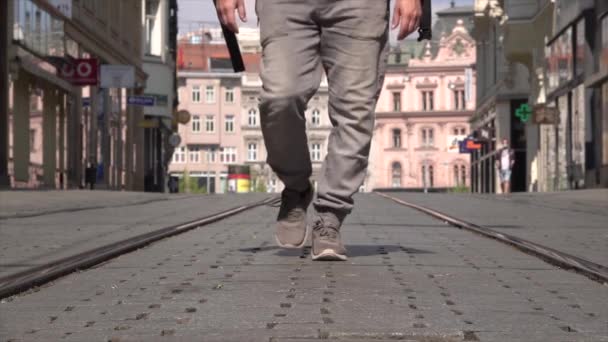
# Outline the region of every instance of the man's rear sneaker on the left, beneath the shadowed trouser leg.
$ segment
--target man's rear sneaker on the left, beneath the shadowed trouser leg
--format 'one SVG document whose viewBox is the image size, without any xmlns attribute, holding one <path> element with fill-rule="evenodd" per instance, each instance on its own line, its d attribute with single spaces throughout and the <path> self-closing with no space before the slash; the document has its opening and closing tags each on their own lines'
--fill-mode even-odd
<svg viewBox="0 0 608 342">
<path fill-rule="evenodd" d="M 314 190 L 304 192 L 285 189 L 281 194 L 281 209 L 277 218 L 275 240 L 283 248 L 302 248 L 308 240 L 306 210 L 312 201 Z"/>
</svg>

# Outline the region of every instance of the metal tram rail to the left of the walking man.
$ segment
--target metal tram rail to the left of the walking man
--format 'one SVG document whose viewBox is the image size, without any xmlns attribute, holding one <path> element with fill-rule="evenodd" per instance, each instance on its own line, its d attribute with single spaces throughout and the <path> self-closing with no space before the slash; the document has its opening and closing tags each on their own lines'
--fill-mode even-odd
<svg viewBox="0 0 608 342">
<path fill-rule="evenodd" d="M 89 251 L 52 261 L 44 265 L 36 266 L 23 272 L 2 277 L 0 278 L 0 299 L 30 290 L 37 286 L 41 286 L 72 272 L 90 268 L 99 263 L 145 247 L 161 239 L 183 234 L 192 229 L 217 222 L 249 209 L 262 205 L 274 204 L 278 200 L 278 197 L 272 197 L 263 201 L 245 204 L 205 216 L 194 221 L 160 228 L 152 232 L 113 242 Z"/>
</svg>

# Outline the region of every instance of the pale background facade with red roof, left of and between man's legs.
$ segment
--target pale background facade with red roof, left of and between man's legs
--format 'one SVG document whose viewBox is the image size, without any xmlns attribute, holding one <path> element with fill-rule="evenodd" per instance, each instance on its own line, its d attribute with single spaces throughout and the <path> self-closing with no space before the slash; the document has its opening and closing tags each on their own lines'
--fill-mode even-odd
<svg viewBox="0 0 608 342">
<path fill-rule="evenodd" d="M 283 185 L 266 164 L 260 127 L 259 31 L 242 28 L 239 44 L 246 71 L 236 74 L 219 29 L 204 29 L 180 39 L 179 109 L 190 113 L 190 122 L 179 126 L 181 144 L 173 154 L 169 172 L 176 177 L 187 173 L 204 192 L 223 193 L 230 190 L 228 166 L 246 165 L 250 168 L 251 191 L 280 192 Z M 327 96 L 323 78 L 306 113 L 313 184 L 331 130 Z"/>
</svg>

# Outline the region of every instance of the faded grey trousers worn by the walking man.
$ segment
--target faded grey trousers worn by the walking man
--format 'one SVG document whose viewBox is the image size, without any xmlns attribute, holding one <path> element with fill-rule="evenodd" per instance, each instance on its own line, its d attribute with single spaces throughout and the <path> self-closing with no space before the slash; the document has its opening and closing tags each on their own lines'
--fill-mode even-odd
<svg viewBox="0 0 608 342">
<path fill-rule="evenodd" d="M 388 51 L 388 0 L 257 0 L 260 119 L 268 164 L 286 188 L 308 187 L 305 110 L 323 71 L 333 125 L 317 209 L 344 214 L 365 179 Z"/>
</svg>

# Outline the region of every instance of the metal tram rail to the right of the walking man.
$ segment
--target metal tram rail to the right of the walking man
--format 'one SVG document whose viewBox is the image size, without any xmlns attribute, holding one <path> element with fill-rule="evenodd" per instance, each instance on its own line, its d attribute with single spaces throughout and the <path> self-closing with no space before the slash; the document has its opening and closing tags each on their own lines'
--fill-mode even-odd
<svg viewBox="0 0 608 342">
<path fill-rule="evenodd" d="M 387 195 L 387 194 L 384 194 L 381 192 L 375 192 L 375 193 L 381 197 L 390 199 L 401 205 L 410 207 L 412 209 L 416 209 L 427 215 L 440 219 L 452 226 L 455 226 L 455 227 L 458 227 L 461 229 L 466 229 L 466 230 L 475 232 L 477 234 L 483 235 L 485 237 L 489 237 L 489 238 L 498 240 L 502 243 L 514 246 L 515 248 L 517 248 L 525 253 L 536 256 L 554 266 L 568 269 L 568 270 L 573 270 L 577 273 L 585 275 L 589 279 L 592 279 L 594 281 L 597 281 L 597 282 L 600 282 L 603 284 L 608 284 L 608 268 L 606 266 L 594 263 L 592 261 L 574 256 L 574 255 L 571 255 L 571 254 L 568 254 L 568 253 L 565 253 L 565 252 L 562 252 L 562 251 L 559 251 L 556 249 L 553 249 L 551 247 L 541 245 L 536 242 L 521 239 L 516 236 L 509 235 L 509 234 L 500 233 L 500 232 L 497 232 L 488 227 L 479 226 L 474 223 L 470 223 L 470 222 L 455 218 L 453 216 L 444 214 L 437 210 L 433 210 L 433 209 L 423 207 L 423 206 L 420 206 L 420 205 L 417 205 L 417 204 L 414 204 L 411 202 L 407 202 L 407 201 L 395 198 L 393 196 L 390 196 L 390 195 Z"/>
</svg>

